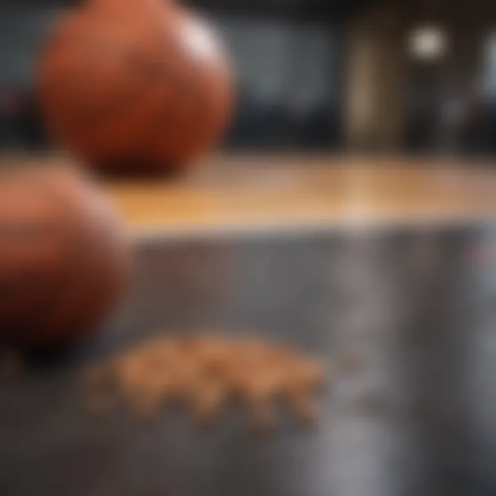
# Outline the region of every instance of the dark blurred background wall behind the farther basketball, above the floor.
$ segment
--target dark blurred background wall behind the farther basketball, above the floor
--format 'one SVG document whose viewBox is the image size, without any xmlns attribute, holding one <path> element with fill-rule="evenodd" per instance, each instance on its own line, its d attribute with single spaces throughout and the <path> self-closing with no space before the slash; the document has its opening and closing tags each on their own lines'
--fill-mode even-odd
<svg viewBox="0 0 496 496">
<path fill-rule="evenodd" d="M 70 0 L 0 6 L 0 147 L 50 147 L 33 91 L 41 41 Z M 238 76 L 234 150 L 496 152 L 491 0 L 190 0 Z"/>
</svg>

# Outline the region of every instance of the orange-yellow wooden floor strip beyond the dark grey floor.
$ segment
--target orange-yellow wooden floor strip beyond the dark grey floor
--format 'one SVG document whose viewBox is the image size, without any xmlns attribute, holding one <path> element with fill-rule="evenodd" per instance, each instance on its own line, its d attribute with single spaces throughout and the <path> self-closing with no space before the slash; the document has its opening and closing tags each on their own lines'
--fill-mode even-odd
<svg viewBox="0 0 496 496">
<path fill-rule="evenodd" d="M 223 157 L 172 182 L 107 183 L 138 232 L 485 218 L 496 169 L 432 159 Z"/>
</svg>

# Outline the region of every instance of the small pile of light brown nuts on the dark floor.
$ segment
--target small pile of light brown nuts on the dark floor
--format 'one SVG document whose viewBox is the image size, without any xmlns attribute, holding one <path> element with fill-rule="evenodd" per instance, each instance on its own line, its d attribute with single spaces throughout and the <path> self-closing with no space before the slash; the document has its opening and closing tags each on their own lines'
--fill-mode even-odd
<svg viewBox="0 0 496 496">
<path fill-rule="evenodd" d="M 294 349 L 257 340 L 163 337 L 91 366 L 84 378 L 94 412 L 124 400 L 149 420 L 180 404 L 208 424 L 239 402 L 256 427 L 269 428 L 278 401 L 304 422 L 316 417 L 314 395 L 324 368 Z"/>
</svg>

